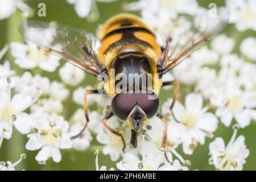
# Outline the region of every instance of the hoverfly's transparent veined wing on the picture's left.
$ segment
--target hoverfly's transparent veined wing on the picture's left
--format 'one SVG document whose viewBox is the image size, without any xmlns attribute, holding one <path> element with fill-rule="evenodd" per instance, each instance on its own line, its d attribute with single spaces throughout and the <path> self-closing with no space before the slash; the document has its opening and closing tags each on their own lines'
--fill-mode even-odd
<svg viewBox="0 0 256 182">
<path fill-rule="evenodd" d="M 19 30 L 27 42 L 67 60 L 85 72 L 97 76 L 105 69 L 96 53 L 100 41 L 84 30 L 34 20 L 20 23 Z"/>
</svg>

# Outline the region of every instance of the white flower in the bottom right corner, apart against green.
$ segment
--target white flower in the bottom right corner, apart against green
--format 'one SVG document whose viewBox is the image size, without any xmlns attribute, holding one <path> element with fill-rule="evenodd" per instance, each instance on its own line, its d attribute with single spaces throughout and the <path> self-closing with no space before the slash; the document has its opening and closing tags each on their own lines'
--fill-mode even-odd
<svg viewBox="0 0 256 182">
<path fill-rule="evenodd" d="M 214 164 L 216 169 L 220 170 L 236 170 L 241 171 L 245 159 L 249 156 L 250 151 L 246 148 L 245 137 L 240 135 L 236 139 L 237 130 L 234 131 L 232 138 L 225 147 L 222 138 L 216 138 L 209 145 L 210 162 Z"/>
</svg>

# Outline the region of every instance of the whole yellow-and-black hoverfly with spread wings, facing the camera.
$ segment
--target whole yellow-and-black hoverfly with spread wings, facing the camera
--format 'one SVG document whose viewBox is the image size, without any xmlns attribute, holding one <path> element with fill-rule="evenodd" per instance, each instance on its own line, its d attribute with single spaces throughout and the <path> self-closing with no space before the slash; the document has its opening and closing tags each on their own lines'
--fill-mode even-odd
<svg viewBox="0 0 256 182">
<path fill-rule="evenodd" d="M 208 13 L 193 17 L 181 16 L 177 20 L 170 21 L 168 31 L 164 33 L 163 46 L 158 44 L 154 31 L 137 16 L 131 14 L 119 14 L 107 20 L 98 38 L 84 30 L 56 22 L 26 20 L 20 24 L 19 30 L 28 42 L 60 56 L 85 72 L 96 77 L 101 73 L 108 75 L 110 79 L 105 82 L 102 89 L 105 90 L 104 94 L 108 94 L 112 99 L 112 111 L 102 119 L 102 123 L 113 134 L 121 137 L 124 151 L 126 143 L 123 135 L 108 125 L 108 119 L 115 115 L 119 120 L 126 121 L 131 128 L 130 144 L 137 147 L 139 129 L 146 125 L 149 118 L 156 115 L 164 123 L 162 148 L 165 149 L 167 119 L 159 113 L 159 98 L 150 99 L 149 96 L 151 94 L 158 96 L 162 86 L 174 85 L 173 102 L 170 107 L 172 111 L 177 100 L 179 84 L 176 80 L 162 82 L 160 78 L 220 32 L 227 20 L 228 14 L 221 9 L 218 9 L 213 16 Z M 96 50 L 97 45 L 100 45 L 100 48 Z M 115 73 L 110 72 L 111 69 L 114 69 Z M 125 85 L 119 92 L 117 90 L 110 92 L 109 85 L 118 84 L 118 81 L 112 80 L 112 76 L 118 73 L 125 76 L 130 73 L 151 74 L 151 80 L 156 84 L 149 88 L 148 85 L 139 82 L 137 89 L 134 85 L 131 87 Z M 79 137 L 88 125 L 89 109 L 86 101 L 88 94 L 100 93 L 97 89 L 86 90 L 84 94 L 86 124 L 84 129 L 72 139 Z"/>
</svg>

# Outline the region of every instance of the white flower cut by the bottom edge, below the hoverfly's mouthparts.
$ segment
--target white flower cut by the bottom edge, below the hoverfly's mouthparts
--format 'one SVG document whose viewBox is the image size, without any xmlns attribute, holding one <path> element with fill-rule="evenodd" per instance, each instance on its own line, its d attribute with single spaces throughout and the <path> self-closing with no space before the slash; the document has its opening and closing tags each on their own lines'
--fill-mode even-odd
<svg viewBox="0 0 256 182">
<path fill-rule="evenodd" d="M 123 159 L 117 163 L 117 168 L 121 171 L 154 171 L 158 170 L 160 164 L 163 162 L 164 155 L 160 150 L 151 151 L 142 161 L 132 152 L 126 152 L 126 154 L 123 155 Z"/>
</svg>

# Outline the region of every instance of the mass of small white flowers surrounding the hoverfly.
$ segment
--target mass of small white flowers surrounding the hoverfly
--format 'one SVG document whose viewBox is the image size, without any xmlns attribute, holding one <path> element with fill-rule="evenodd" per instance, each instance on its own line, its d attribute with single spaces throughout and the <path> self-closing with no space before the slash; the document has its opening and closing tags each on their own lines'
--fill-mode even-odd
<svg viewBox="0 0 256 182">
<path fill-rule="evenodd" d="M 99 16 L 96 1 L 67 2 L 75 6 L 80 18 L 96 20 Z M 246 30 L 255 33 L 255 1 L 225 2 L 234 32 L 239 35 Z M 171 20 L 204 10 L 195 0 L 139 0 L 125 7 L 141 12 L 143 21 L 156 32 L 159 42 L 162 30 L 170 26 Z M 22 0 L 0 0 L 0 20 L 8 18 L 16 8 L 31 13 Z M 162 78 L 162 81 L 180 83 L 173 110 L 170 110 L 172 98 L 162 101 L 160 106 L 160 113 L 168 120 L 166 147 L 162 147 L 164 125 L 159 118 L 149 119 L 147 126 L 138 133 L 137 148 L 133 148 L 129 146 L 131 129 L 112 117 L 108 125 L 123 134 L 126 143 L 123 152 L 122 139 L 101 122 L 111 104 L 105 94 L 87 96 L 90 122 L 79 137 L 72 139 L 86 124 L 82 109 L 85 91 L 96 87 L 83 84 L 88 81 L 83 71 L 69 63 L 62 64 L 58 57 L 30 43 L 11 42 L 0 52 L 0 150 L 13 130 L 17 130 L 27 136 L 26 150 L 38 151 L 34 157 L 39 164 L 46 164 L 50 158 L 60 162 L 60 150 L 94 151 L 97 147 L 94 152 L 97 170 L 107 170 L 106 166 L 98 166 L 101 151 L 116 163 L 115 169 L 173 171 L 189 170 L 193 164 L 184 156 L 193 155 L 197 146 L 205 146 L 208 140 L 210 144 L 205 147 L 209 147 L 209 164 L 218 170 L 242 170 L 249 150 L 245 136 L 237 137 L 237 130 L 254 125 L 252 121 L 256 119 L 255 48 L 253 36 L 240 39 L 221 33 L 193 52 Z M 9 49 L 10 61 L 4 61 Z M 12 69 L 14 65 L 23 73 L 16 73 Z M 163 89 L 172 95 L 172 86 Z M 233 126 L 234 133 L 226 146 L 222 136 L 214 136 L 220 125 L 226 130 Z M 93 138 L 96 141 L 92 144 Z M 24 156 L 21 155 L 20 160 Z M 0 170 L 13 170 L 20 160 L 14 164 L 7 162 L 8 166 L 1 162 Z"/>
</svg>

